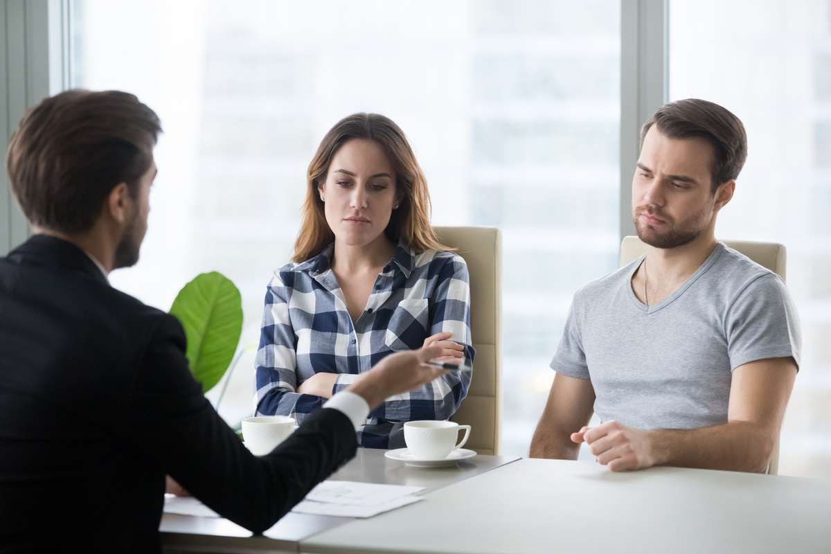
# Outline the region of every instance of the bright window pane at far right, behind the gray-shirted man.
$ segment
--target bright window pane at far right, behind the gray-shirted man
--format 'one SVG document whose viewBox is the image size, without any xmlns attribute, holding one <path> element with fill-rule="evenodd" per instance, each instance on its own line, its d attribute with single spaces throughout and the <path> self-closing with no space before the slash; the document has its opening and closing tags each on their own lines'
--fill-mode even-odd
<svg viewBox="0 0 831 554">
<path fill-rule="evenodd" d="M 748 159 L 720 238 L 783 243 L 803 358 L 779 473 L 831 477 L 831 7 L 802 0 L 671 2 L 671 99 L 724 105 Z"/>
</svg>

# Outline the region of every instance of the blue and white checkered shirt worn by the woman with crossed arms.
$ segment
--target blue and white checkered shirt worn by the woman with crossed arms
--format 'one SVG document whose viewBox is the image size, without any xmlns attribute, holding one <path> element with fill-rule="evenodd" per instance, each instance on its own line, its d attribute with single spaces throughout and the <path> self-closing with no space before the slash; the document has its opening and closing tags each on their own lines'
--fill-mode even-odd
<svg viewBox="0 0 831 554">
<path fill-rule="evenodd" d="M 303 380 L 337 373 L 337 392 L 384 356 L 420 348 L 442 331 L 465 346 L 465 362 L 473 365 L 470 285 L 462 257 L 416 255 L 399 245 L 353 323 L 330 268 L 333 251 L 332 244 L 306 262 L 280 268 L 268 285 L 256 360 L 257 414 L 294 414 L 302 421 L 324 400 L 295 392 Z M 391 396 L 358 430 L 358 444 L 404 446 L 403 423 L 450 418 L 467 395 L 470 377 L 469 371 L 450 372 L 419 390 Z"/>
</svg>

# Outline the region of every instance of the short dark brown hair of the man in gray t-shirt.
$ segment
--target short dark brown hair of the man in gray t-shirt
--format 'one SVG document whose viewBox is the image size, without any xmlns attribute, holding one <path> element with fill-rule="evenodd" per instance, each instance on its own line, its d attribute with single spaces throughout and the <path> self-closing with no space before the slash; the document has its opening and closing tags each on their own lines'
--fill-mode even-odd
<svg viewBox="0 0 831 554">
<path fill-rule="evenodd" d="M 688 98 L 662 105 L 641 129 L 641 145 L 647 131 L 658 130 L 672 139 L 701 137 L 713 146 L 712 192 L 739 176 L 747 159 L 745 125 L 729 110 L 706 100 Z"/>
</svg>

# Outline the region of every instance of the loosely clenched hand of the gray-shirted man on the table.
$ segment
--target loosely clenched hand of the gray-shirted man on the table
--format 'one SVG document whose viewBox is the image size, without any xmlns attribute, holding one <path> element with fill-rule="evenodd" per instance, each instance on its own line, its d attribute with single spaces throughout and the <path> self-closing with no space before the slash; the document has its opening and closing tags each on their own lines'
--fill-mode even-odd
<svg viewBox="0 0 831 554">
<path fill-rule="evenodd" d="M 597 427 L 583 427 L 571 434 L 575 443 L 588 444 L 597 457 L 597 463 L 612 471 L 628 471 L 655 465 L 652 439 L 647 431 L 632 429 L 617 421 L 607 421 Z"/>
</svg>

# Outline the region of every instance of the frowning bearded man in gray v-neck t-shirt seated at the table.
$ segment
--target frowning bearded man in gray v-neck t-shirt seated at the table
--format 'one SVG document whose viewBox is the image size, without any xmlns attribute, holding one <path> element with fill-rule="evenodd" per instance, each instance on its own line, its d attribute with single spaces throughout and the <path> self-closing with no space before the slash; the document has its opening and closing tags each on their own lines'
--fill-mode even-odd
<svg viewBox="0 0 831 554">
<path fill-rule="evenodd" d="M 585 442 L 616 471 L 765 470 L 801 337 L 779 276 L 715 240 L 746 151 L 711 102 L 644 125 L 632 218 L 647 254 L 574 295 L 533 457 L 574 459 Z"/>
</svg>

